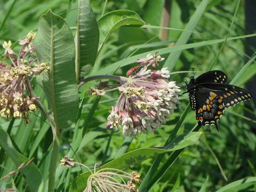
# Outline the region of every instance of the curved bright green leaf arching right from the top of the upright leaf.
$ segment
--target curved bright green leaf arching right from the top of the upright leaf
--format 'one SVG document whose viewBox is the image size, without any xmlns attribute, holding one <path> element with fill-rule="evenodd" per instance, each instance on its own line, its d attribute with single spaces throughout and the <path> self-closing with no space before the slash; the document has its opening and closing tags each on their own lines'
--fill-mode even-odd
<svg viewBox="0 0 256 192">
<path fill-rule="evenodd" d="M 116 10 L 103 15 L 98 20 L 100 30 L 99 50 L 111 33 L 122 26 L 142 26 L 145 22 L 134 11 Z"/>
</svg>

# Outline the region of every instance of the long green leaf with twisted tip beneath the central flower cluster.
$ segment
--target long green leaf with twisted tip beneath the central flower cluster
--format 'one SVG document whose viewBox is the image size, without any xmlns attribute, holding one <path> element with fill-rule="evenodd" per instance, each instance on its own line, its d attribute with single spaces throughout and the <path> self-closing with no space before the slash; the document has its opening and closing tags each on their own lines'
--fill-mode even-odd
<svg viewBox="0 0 256 192">
<path fill-rule="evenodd" d="M 115 169 L 124 169 L 132 164 L 139 163 L 144 161 L 145 159 L 154 157 L 159 154 L 167 153 L 170 151 L 176 151 L 182 148 L 185 148 L 190 145 L 194 145 L 202 132 L 191 132 L 191 133 L 183 133 L 179 135 L 179 137 L 175 138 L 172 143 L 170 143 L 169 148 L 160 149 L 160 148 L 139 148 L 132 150 L 122 156 L 115 158 L 113 161 L 102 165 L 103 168 L 115 168 Z M 91 174 L 90 171 L 87 171 L 81 175 L 79 175 L 73 182 L 71 186 L 71 191 L 83 191 L 86 188 L 86 180 Z"/>
</svg>

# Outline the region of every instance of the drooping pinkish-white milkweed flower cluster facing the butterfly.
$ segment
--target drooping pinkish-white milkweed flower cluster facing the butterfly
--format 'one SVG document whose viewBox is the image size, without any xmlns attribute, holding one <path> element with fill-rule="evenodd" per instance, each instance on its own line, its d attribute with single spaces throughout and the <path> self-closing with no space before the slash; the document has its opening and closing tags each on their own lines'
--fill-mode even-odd
<svg viewBox="0 0 256 192">
<path fill-rule="evenodd" d="M 119 130 L 123 127 L 123 135 L 135 135 L 140 132 L 156 130 L 170 117 L 179 102 L 179 87 L 169 82 L 170 71 L 167 68 L 150 70 L 162 61 L 159 55 L 147 55 L 139 59 L 139 66 L 130 69 L 126 82 L 118 87 L 120 97 L 108 116 L 108 129 Z M 132 68 L 132 69 L 133 69 Z"/>
</svg>

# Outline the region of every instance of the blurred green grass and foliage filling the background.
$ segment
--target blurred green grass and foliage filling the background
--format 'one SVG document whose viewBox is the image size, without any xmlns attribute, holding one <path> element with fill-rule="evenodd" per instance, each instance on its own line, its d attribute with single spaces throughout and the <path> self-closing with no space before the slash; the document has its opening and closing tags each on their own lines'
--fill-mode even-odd
<svg viewBox="0 0 256 192">
<path fill-rule="evenodd" d="M 199 0 L 173 0 L 170 7 L 169 27 L 184 29 L 200 2 Z M 237 2 L 231 0 L 210 1 L 195 29 L 200 34 L 193 33 L 187 43 L 225 39 L 227 35 L 235 37 L 247 34 L 245 31 L 244 1 L 239 4 L 234 25 L 230 30 Z M 142 20 L 146 22 L 146 25 L 162 25 L 163 7 L 165 6 L 163 0 L 91 0 L 90 3 L 97 19 L 101 17 L 103 10 L 107 13 L 114 10 L 128 9 L 137 12 Z M 10 14 L 7 14 L 5 25 L 0 27 L 1 42 L 9 39 L 16 42 L 24 38 L 28 31 L 37 30 L 39 17 L 49 9 L 66 18 L 65 20 L 69 27 L 73 29 L 75 35 L 76 1 L 0 1 L 0 15 L 6 15 L 12 4 L 13 8 Z M 4 17 L 0 18 L 1 23 L 3 19 Z M 167 39 L 163 40 L 159 36 L 163 29 L 121 27 L 102 46 L 91 74 L 104 73 L 102 68 L 133 55 L 173 46 L 182 31 L 168 31 Z M 194 49 L 188 49 L 188 46 L 185 46 L 185 50 L 182 51 L 178 62 L 175 63 L 171 71 L 173 74 L 170 80 L 176 81 L 178 84 L 182 83 L 184 78 L 193 75 L 191 69 L 195 68 L 198 63 L 201 63 L 201 65 L 197 67 L 196 75 L 207 71 L 218 54 L 220 46 L 221 44 L 203 45 Z M 251 50 L 249 54 L 254 53 L 255 47 L 250 47 L 244 38 L 227 41 L 218 58 L 216 58 L 214 69 L 225 71 L 229 82 L 252 57 L 252 55 L 245 53 L 245 47 Z M 3 51 L 2 49 L 1 52 Z M 167 58 L 168 55 L 164 54 L 162 57 Z M 252 61 L 251 65 L 246 67 L 243 74 L 239 76 L 235 82 L 236 85 L 245 87 L 247 82 L 252 81 L 252 77 L 256 74 L 255 61 L 254 59 Z M 168 63 L 165 63 L 165 65 L 168 65 Z M 118 68 L 116 65 L 115 69 L 117 71 L 115 74 L 125 75 L 127 69 L 131 66 L 133 65 Z M 46 104 L 44 93 L 36 85 L 36 82 L 34 84 L 35 92 L 41 96 L 41 100 Z M 73 124 L 62 131 L 60 146 L 60 157 L 69 154 L 76 161 L 90 167 L 93 167 L 95 163 L 102 164 L 115 158 L 122 147 L 122 143 L 124 143 L 124 138 L 120 132 L 112 132 L 106 129 L 108 112 L 118 98 L 118 93 L 114 92 L 100 98 L 92 98 L 86 94 L 86 91 L 93 85 L 97 85 L 97 82 L 90 82 L 79 90 L 80 98 L 84 97 L 81 117 L 77 119 L 77 126 Z M 176 113 L 162 129 L 158 129 L 154 133 L 141 134 L 133 140 L 130 139 L 131 143 L 127 150 L 164 146 L 187 104 L 188 95 L 183 95 L 180 98 L 180 105 Z M 256 176 L 256 121 L 252 119 L 255 118 L 253 102 L 239 104 L 225 112 L 225 116 L 222 116 L 219 122 L 220 132 L 217 132 L 212 126 L 210 128 L 202 127 L 200 130 L 203 131 L 201 139 L 196 145 L 183 150 L 177 161 L 168 167 L 150 191 L 173 192 L 198 191 L 200 189 L 200 191 L 216 191 L 230 182 Z M 34 162 L 41 171 L 43 180 L 47 182 L 47 162 L 49 162 L 49 151 L 52 142 L 51 130 L 39 111 L 36 112 L 36 115 L 31 115 L 30 118 L 32 124 L 27 126 L 19 120 L 7 122 L 1 119 L 0 121 L 3 130 L 9 133 L 15 145 L 17 145 L 15 148 L 18 148 L 18 151 L 28 158 L 35 157 Z M 190 132 L 195 124 L 195 113 L 189 110 L 178 134 Z M 81 128 L 83 128 L 82 131 L 77 131 Z M 74 155 L 73 147 L 76 144 L 77 137 L 83 139 Z M 164 155 L 162 163 L 169 155 L 169 153 Z M 150 158 L 130 166 L 126 171 L 137 171 L 143 179 L 153 162 L 154 158 Z M 0 150 L 0 178 L 14 170 L 15 166 L 17 165 L 12 163 L 8 153 L 2 147 Z M 81 167 L 74 167 L 71 170 L 59 167 L 57 169 L 57 182 L 55 183 L 58 190 L 68 191 L 69 183 L 82 172 L 85 172 L 85 170 L 82 170 Z M 25 184 L 25 179 L 18 175 L 8 181 L 0 181 L 0 189 L 6 185 L 15 185 L 17 189 L 23 191 L 26 190 Z M 45 187 L 42 190 L 47 191 Z M 256 191 L 256 184 L 255 182 L 244 183 L 229 191 L 239 190 Z"/>
</svg>

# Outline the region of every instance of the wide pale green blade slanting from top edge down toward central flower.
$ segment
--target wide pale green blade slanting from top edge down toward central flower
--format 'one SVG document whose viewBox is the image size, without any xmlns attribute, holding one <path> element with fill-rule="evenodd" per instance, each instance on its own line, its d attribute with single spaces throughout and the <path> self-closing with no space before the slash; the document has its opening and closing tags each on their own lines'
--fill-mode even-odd
<svg viewBox="0 0 256 192">
<path fill-rule="evenodd" d="M 193 31 L 196 28 L 197 23 L 201 19 L 208 2 L 209 0 L 203 0 L 199 4 L 195 13 L 192 15 L 191 19 L 189 20 L 188 25 L 185 27 L 185 30 Z M 175 46 L 185 45 L 189 37 L 191 36 L 191 34 L 192 34 L 191 32 L 183 31 L 177 43 L 175 44 Z M 171 71 L 174 68 L 175 63 L 177 63 L 177 61 L 179 60 L 180 55 L 181 55 L 181 51 L 171 52 L 165 61 L 164 67 L 168 67 L 169 70 Z"/>
</svg>

